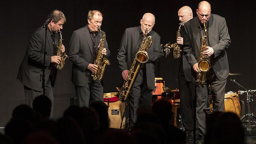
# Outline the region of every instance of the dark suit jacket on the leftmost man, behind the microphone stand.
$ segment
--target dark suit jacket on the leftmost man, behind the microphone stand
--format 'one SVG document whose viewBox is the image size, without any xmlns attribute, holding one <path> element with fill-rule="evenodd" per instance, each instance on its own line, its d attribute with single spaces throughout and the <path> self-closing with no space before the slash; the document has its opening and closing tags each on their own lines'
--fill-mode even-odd
<svg viewBox="0 0 256 144">
<path fill-rule="evenodd" d="M 48 28 L 48 27 L 47 27 Z M 53 51 L 56 50 L 53 45 L 51 38 L 52 32 L 48 28 L 47 38 L 45 43 L 45 28 L 42 26 L 36 29 L 32 37 L 30 38 L 26 54 L 23 61 L 20 64 L 17 79 L 22 82 L 23 85 L 37 91 L 42 90 L 42 78 L 43 75 L 43 62 L 44 62 L 44 46 L 46 45 L 46 56 L 45 56 L 45 84 L 49 78 L 51 67 L 54 67 L 54 63 L 51 63 L 51 56 Z M 55 41 L 58 45 L 59 35 L 55 34 Z M 51 64 L 51 67 L 49 67 Z M 54 86 L 56 79 L 57 69 L 54 68 L 52 74 L 52 86 Z"/>
</svg>

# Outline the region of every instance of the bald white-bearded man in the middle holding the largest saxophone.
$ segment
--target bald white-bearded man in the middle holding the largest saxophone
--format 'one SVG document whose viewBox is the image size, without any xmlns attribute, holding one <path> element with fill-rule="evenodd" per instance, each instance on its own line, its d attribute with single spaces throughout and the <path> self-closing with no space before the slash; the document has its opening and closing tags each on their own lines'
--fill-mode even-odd
<svg viewBox="0 0 256 144">
<path fill-rule="evenodd" d="M 140 24 L 141 25 L 138 27 L 125 29 L 117 54 L 122 77 L 126 80 L 135 55 L 138 52 L 144 36 L 146 36 L 145 31 L 148 31 L 147 36 L 152 36 L 153 38 L 151 47 L 146 51 L 149 58 L 148 62 L 142 65 L 129 96 L 131 126 L 136 122 L 136 111 L 139 104 L 151 105 L 152 91 L 155 88 L 155 62 L 162 57 L 160 36 L 152 30 L 155 25 L 155 16 L 151 13 L 145 13 L 140 20 Z"/>
</svg>

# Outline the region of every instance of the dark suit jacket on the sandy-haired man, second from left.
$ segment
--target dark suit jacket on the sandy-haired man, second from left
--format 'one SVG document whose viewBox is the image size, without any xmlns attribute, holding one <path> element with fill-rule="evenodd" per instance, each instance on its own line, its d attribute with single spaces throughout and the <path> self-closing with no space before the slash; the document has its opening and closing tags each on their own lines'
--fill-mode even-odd
<svg viewBox="0 0 256 144">
<path fill-rule="evenodd" d="M 104 34 L 105 32 L 102 31 Z M 106 35 L 106 34 L 105 34 Z M 98 42 L 102 38 L 102 34 L 98 34 Z M 72 82 L 78 86 L 85 86 L 89 82 L 91 77 L 91 71 L 87 69 L 88 65 L 93 64 L 93 47 L 92 39 L 88 29 L 88 25 L 78 30 L 75 30 L 69 41 L 69 60 L 73 63 L 72 67 Z M 107 55 L 104 57 L 108 58 L 110 56 L 110 51 L 108 49 L 108 43 L 104 41 L 104 48 L 107 49 Z"/>
</svg>

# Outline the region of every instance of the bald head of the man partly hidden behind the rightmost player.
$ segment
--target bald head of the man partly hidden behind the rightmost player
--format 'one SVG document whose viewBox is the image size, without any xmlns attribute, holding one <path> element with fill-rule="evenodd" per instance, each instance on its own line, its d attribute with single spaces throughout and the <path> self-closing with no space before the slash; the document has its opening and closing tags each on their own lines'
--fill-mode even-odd
<svg viewBox="0 0 256 144">
<path fill-rule="evenodd" d="M 178 17 L 180 22 L 182 22 L 182 25 L 184 25 L 184 23 L 193 18 L 192 9 L 189 6 L 180 8 L 178 11 Z"/>
</svg>

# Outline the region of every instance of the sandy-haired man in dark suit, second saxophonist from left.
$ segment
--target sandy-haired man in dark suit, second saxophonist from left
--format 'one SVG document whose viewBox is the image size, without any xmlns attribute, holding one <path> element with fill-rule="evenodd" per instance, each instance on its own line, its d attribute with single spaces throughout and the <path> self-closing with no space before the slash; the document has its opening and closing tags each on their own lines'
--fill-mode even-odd
<svg viewBox="0 0 256 144">
<path fill-rule="evenodd" d="M 72 82 L 75 84 L 76 96 L 79 106 L 89 106 L 89 101 L 103 101 L 103 82 L 92 79 L 98 66 L 94 64 L 97 57 L 100 39 L 103 38 L 99 28 L 103 20 L 103 15 L 98 10 L 88 12 L 88 24 L 75 30 L 71 36 L 68 53 L 69 59 L 73 63 Z M 105 32 L 102 31 L 104 34 Z M 110 51 L 106 38 L 101 54 L 108 58 Z"/>
</svg>

